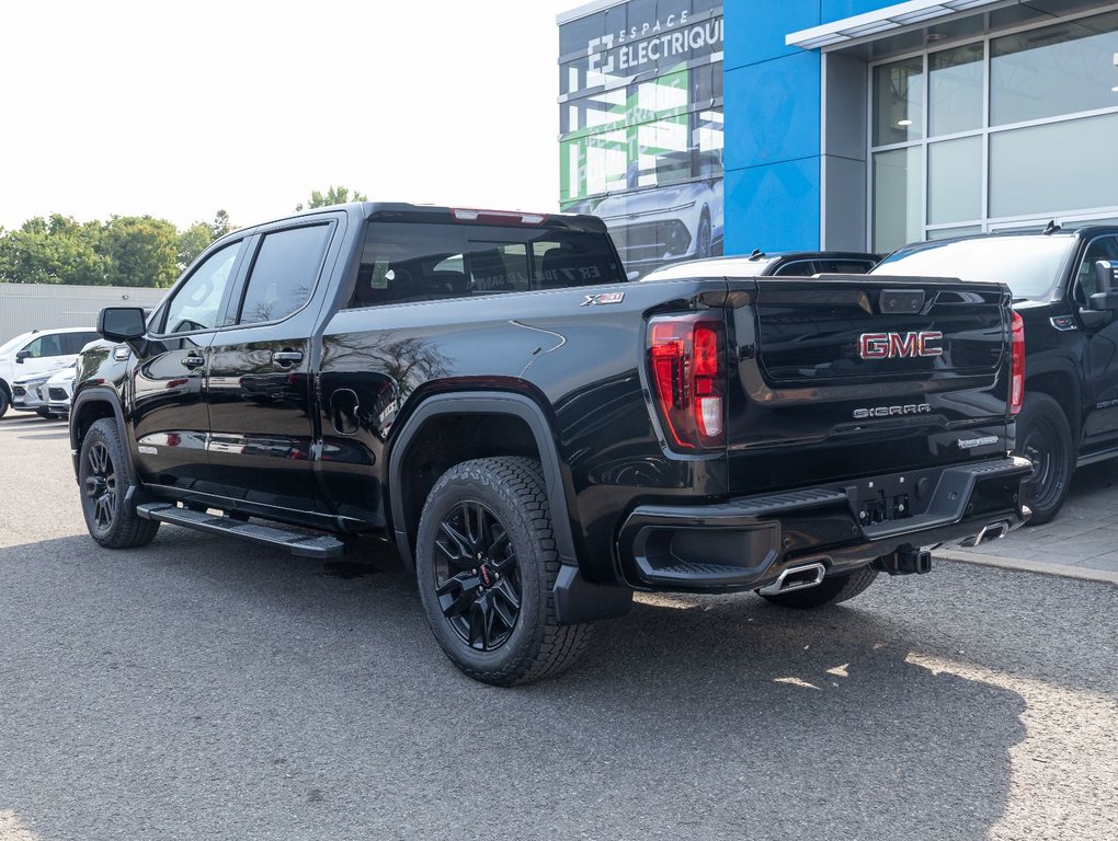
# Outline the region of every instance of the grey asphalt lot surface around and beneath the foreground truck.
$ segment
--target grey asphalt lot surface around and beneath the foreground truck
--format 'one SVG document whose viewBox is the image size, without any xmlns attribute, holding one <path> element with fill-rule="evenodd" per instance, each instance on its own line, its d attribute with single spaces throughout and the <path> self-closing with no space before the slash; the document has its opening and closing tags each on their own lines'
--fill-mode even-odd
<svg viewBox="0 0 1118 841">
<path fill-rule="evenodd" d="M 372 542 L 101 549 L 57 422 L 0 421 L 0 841 L 1118 838 L 1111 584 L 642 598 L 496 689 Z"/>
</svg>

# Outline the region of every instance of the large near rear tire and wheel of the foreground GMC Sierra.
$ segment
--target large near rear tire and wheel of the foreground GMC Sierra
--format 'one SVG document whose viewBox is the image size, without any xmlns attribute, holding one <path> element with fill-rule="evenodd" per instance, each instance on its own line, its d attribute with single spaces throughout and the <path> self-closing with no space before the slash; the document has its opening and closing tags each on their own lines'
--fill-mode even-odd
<svg viewBox="0 0 1118 841">
<path fill-rule="evenodd" d="M 538 461 L 464 461 L 435 482 L 416 542 L 419 596 L 435 639 L 466 675 L 512 686 L 575 662 L 590 627 L 559 624 L 559 568 Z"/>
</svg>

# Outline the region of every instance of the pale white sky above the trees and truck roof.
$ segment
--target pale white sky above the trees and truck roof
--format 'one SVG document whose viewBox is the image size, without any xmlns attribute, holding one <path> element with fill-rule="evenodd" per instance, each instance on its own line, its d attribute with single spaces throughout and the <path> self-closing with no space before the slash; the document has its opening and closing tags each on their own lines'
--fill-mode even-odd
<svg viewBox="0 0 1118 841">
<path fill-rule="evenodd" d="M 237 226 L 312 190 L 558 208 L 556 15 L 582 0 L 3 0 L 0 227 Z"/>
</svg>

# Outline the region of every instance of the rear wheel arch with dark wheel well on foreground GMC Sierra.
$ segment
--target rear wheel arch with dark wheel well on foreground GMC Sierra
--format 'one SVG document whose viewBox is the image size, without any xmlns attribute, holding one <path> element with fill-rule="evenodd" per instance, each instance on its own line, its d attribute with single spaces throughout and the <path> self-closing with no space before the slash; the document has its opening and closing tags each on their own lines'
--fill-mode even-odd
<svg viewBox="0 0 1118 841">
<path fill-rule="evenodd" d="M 492 456 L 539 460 L 559 558 L 568 565 L 578 563 L 558 443 L 543 410 L 523 394 L 470 392 L 427 398 L 390 445 L 388 507 L 396 545 L 409 571 L 415 570 L 419 515 L 435 481 L 458 462 Z"/>
</svg>

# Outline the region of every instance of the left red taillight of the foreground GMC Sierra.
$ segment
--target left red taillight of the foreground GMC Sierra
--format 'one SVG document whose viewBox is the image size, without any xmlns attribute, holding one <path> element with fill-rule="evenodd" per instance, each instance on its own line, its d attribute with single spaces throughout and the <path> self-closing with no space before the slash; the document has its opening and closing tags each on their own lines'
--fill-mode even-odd
<svg viewBox="0 0 1118 841">
<path fill-rule="evenodd" d="M 726 338 L 709 314 L 657 316 L 648 323 L 653 400 L 675 449 L 726 445 Z"/>
</svg>

